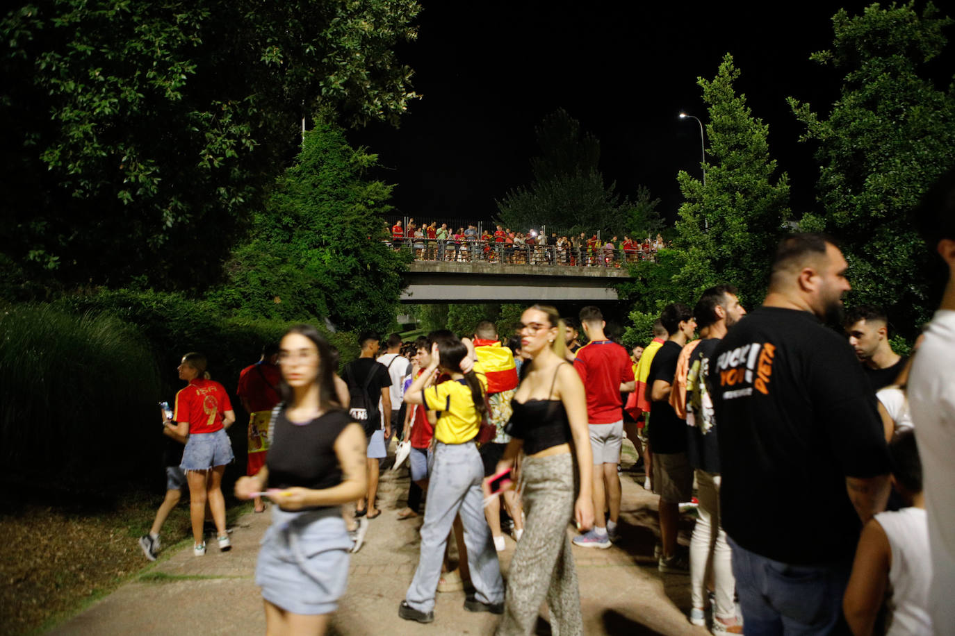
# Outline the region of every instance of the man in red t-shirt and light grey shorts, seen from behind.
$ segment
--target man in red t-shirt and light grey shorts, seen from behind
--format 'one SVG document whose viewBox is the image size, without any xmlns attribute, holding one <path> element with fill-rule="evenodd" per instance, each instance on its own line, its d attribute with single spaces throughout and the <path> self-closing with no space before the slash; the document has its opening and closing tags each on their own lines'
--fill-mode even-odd
<svg viewBox="0 0 955 636">
<path fill-rule="evenodd" d="M 624 441 L 624 410 L 620 394 L 634 387 L 633 368 L 626 349 L 604 335 L 606 323 L 600 309 L 584 307 L 580 313 L 584 334 L 589 340 L 577 350 L 574 368 L 584 381 L 587 423 L 593 453 L 593 500 L 597 516 L 594 527 L 574 537 L 583 547 L 610 547 L 616 539 L 620 518 L 620 476 L 617 464 Z M 605 503 L 610 509 L 604 521 Z"/>
</svg>

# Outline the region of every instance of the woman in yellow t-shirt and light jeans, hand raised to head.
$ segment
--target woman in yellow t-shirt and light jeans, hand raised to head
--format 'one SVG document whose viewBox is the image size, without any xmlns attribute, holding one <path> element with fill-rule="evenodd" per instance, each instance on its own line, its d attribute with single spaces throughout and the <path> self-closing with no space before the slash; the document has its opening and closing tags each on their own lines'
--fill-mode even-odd
<svg viewBox="0 0 955 636">
<path fill-rule="evenodd" d="M 421 555 L 412 585 L 398 607 L 398 616 L 408 621 L 435 620 L 437 582 L 456 515 L 460 515 L 464 525 L 471 583 L 475 587 L 464 608 L 494 614 L 504 610 L 498 552 L 484 519 L 484 464 L 474 442 L 486 408 L 483 375 L 476 359 L 474 348 L 453 336 L 435 339 L 431 363 L 405 391 L 405 403 L 421 404 L 437 415 L 435 465 L 421 526 Z M 451 380 L 425 388 L 438 372 L 449 374 Z"/>
</svg>

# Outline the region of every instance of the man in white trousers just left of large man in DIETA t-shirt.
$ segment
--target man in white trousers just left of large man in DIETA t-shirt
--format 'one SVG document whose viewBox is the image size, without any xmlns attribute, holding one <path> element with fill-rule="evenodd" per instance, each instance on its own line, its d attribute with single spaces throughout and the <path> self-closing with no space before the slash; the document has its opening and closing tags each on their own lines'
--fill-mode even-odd
<svg viewBox="0 0 955 636">
<path fill-rule="evenodd" d="M 732 285 L 716 285 L 704 291 L 693 308 L 701 339 L 690 354 L 686 397 L 687 457 L 696 477 L 699 500 L 699 519 L 690 539 L 690 623 L 706 625 L 707 573 L 711 572 L 714 632 L 726 633 L 742 633 L 742 626 L 736 620 L 730 545 L 720 524 L 719 444 L 707 376 L 716 345 L 746 315 L 736 295 Z"/>
</svg>

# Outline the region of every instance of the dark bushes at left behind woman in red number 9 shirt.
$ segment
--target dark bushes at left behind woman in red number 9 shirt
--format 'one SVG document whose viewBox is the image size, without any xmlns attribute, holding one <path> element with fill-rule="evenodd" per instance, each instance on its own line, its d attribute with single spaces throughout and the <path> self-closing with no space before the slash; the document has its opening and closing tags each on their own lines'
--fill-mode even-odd
<svg viewBox="0 0 955 636">
<path fill-rule="evenodd" d="M 176 367 L 190 351 L 205 354 L 210 375 L 232 399 L 237 461 L 227 473 L 244 474 L 239 372 L 289 326 L 226 318 L 208 302 L 134 290 L 10 305 L 0 322 L 5 465 L 78 488 L 161 475 L 158 402 L 172 403 L 182 388 Z M 357 355 L 353 334 L 319 329 L 343 362 Z"/>
</svg>

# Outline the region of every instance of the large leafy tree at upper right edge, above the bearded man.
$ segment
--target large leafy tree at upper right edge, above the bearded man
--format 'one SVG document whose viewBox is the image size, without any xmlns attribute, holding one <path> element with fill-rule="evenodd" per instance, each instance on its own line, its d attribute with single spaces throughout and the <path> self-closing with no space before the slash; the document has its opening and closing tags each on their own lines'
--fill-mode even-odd
<svg viewBox="0 0 955 636">
<path fill-rule="evenodd" d="M 821 214 L 801 226 L 837 236 L 849 261 L 853 302 L 884 305 L 908 335 L 929 318 L 930 255 L 906 219 L 927 187 L 955 163 L 955 85 L 939 90 L 923 70 L 944 49 L 952 20 L 928 3 L 879 5 L 833 16 L 833 48 L 811 59 L 843 73 L 828 117 L 790 98 L 818 144 Z M 948 78 L 950 80 L 950 78 Z"/>
</svg>

